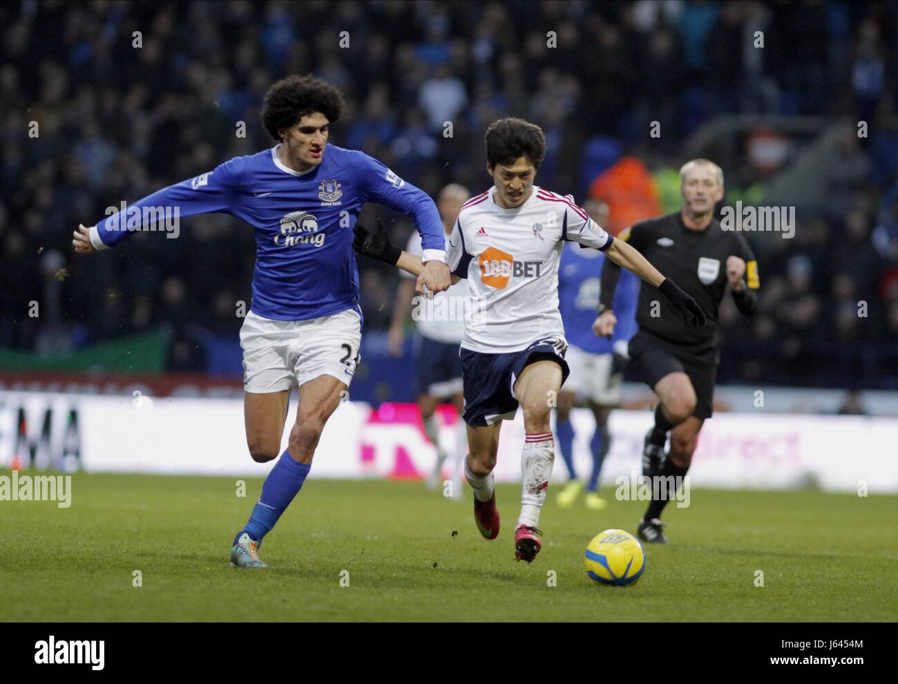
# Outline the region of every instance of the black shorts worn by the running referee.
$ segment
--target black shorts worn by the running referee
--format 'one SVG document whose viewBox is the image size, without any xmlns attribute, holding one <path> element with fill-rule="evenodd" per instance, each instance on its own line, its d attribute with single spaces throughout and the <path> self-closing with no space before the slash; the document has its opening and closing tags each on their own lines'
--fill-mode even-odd
<svg viewBox="0 0 898 684">
<path fill-rule="evenodd" d="M 704 420 L 714 413 L 714 381 L 717 380 L 718 366 L 689 352 L 689 346 L 671 345 L 642 330 L 629 341 L 630 364 L 636 377 L 654 390 L 665 375 L 686 373 L 695 390 L 692 415 Z"/>
</svg>

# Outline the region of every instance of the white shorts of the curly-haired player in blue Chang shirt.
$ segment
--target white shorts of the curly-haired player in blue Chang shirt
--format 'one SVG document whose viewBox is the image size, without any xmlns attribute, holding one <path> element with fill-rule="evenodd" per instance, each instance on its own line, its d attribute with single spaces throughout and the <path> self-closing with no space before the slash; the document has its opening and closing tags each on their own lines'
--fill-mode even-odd
<svg viewBox="0 0 898 684">
<path fill-rule="evenodd" d="M 272 320 L 250 311 L 240 329 L 243 389 L 292 390 L 321 375 L 348 387 L 361 341 L 362 320 L 353 309 L 309 320 Z"/>
</svg>

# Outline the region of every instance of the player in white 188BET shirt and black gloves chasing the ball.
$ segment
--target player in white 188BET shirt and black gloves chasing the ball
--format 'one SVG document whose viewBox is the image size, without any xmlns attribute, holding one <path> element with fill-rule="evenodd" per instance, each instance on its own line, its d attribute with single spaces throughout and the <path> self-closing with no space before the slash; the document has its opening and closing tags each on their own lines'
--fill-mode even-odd
<svg viewBox="0 0 898 684">
<path fill-rule="evenodd" d="M 537 525 L 555 458 L 551 408 L 568 376 L 558 298 L 564 242 L 602 250 L 656 285 L 673 306 L 662 304 L 662 315 L 682 315 L 696 325 L 705 319 L 695 301 L 637 250 L 614 240 L 567 197 L 533 185 L 546 153 L 540 127 L 520 118 L 498 119 L 487 129 L 486 146 L 494 186 L 462 206 L 447 242 L 453 283 L 467 278 L 472 300 L 460 351 L 469 451 L 464 471 L 474 490 L 478 529 L 496 539 L 492 470 L 499 430 L 520 406 L 526 436 L 515 558 L 529 563 L 541 548 Z M 370 233 L 357 225 L 356 235 L 359 253 L 413 275 L 421 272 L 421 259 L 392 245 L 385 229 Z"/>
</svg>

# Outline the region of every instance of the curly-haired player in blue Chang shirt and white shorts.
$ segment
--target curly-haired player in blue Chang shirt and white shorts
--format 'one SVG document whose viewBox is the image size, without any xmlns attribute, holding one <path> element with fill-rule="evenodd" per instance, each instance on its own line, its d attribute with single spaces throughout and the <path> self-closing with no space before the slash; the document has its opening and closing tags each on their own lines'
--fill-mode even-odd
<svg viewBox="0 0 898 684">
<path fill-rule="evenodd" d="M 145 197 L 75 232 L 75 251 L 115 246 L 128 232 L 154 230 L 168 209 L 182 216 L 224 212 L 255 229 L 251 311 L 240 333 L 246 439 L 253 460 L 277 458 L 290 391 L 299 405 L 289 446 L 269 472 L 231 562 L 265 567 L 259 545 L 293 501 L 311 468 L 325 422 L 345 396 L 359 361 L 362 314 L 353 227 L 367 201 L 414 218 L 433 293 L 450 285 L 443 224 L 434 201 L 365 153 L 328 144 L 340 92 L 311 76 L 289 76 L 266 93 L 261 119 L 277 141 L 213 171 Z M 213 455 L 214 457 L 214 455 Z"/>
</svg>

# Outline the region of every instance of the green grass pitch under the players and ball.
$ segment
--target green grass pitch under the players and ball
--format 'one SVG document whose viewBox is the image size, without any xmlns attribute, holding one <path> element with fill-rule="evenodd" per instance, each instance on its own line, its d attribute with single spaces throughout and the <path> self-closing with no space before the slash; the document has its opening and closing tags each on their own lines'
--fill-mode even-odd
<svg viewBox="0 0 898 684">
<path fill-rule="evenodd" d="M 527 566 L 513 559 L 519 487 L 498 487 L 502 532 L 487 541 L 468 491 L 456 503 L 418 482 L 312 478 L 265 540 L 271 567 L 246 572 L 228 552 L 261 480 L 245 498 L 235 480 L 79 474 L 67 509 L 0 502 L 0 620 L 898 618 L 896 496 L 693 489 L 691 507 L 665 512 L 672 543 L 617 588 L 586 577 L 583 551 L 605 529 L 635 531 L 638 502 L 560 509 L 553 487 Z"/>
</svg>

